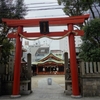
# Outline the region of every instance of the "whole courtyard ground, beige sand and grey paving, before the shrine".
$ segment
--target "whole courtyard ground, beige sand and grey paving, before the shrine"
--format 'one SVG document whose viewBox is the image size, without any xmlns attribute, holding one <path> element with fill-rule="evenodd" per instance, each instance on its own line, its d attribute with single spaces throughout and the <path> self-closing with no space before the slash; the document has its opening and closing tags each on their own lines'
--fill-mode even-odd
<svg viewBox="0 0 100 100">
<path fill-rule="evenodd" d="M 52 84 L 48 85 L 48 78 Z M 64 75 L 37 75 L 32 77 L 32 90 L 30 95 L 22 95 L 14 100 L 100 100 L 100 97 L 72 98 L 64 93 Z M 10 96 L 1 96 L 0 100 L 11 100 Z"/>
</svg>

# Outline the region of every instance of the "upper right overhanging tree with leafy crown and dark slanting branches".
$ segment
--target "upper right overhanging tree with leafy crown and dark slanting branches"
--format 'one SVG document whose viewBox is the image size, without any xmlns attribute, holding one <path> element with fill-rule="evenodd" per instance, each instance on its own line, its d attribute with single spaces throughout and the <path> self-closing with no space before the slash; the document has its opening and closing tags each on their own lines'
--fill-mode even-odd
<svg viewBox="0 0 100 100">
<path fill-rule="evenodd" d="M 96 18 L 92 6 L 96 8 L 96 4 L 100 3 L 100 0 L 58 0 L 59 5 L 63 5 L 63 11 L 68 16 L 83 15 L 88 9 L 90 9 L 93 18 Z M 96 9 L 99 13 L 98 9 Z M 100 14 L 100 13 L 99 13 Z"/>
</svg>

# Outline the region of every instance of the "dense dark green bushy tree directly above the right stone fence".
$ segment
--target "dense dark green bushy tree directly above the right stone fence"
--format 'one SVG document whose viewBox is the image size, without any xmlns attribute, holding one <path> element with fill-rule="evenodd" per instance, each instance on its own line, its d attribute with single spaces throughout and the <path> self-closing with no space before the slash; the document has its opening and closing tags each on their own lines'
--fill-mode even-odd
<svg viewBox="0 0 100 100">
<path fill-rule="evenodd" d="M 100 61 L 100 19 L 91 20 L 83 30 L 79 57 L 84 61 Z"/>
</svg>

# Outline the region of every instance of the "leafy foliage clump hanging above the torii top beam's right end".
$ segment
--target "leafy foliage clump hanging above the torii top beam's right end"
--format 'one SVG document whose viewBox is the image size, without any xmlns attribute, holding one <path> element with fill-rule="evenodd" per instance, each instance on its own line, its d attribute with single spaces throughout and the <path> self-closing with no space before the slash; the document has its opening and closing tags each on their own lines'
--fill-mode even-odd
<svg viewBox="0 0 100 100">
<path fill-rule="evenodd" d="M 93 2 L 89 1 L 91 5 Z M 89 8 L 87 0 L 58 0 L 58 4 L 64 5 L 63 11 L 69 16 L 82 15 Z"/>
</svg>

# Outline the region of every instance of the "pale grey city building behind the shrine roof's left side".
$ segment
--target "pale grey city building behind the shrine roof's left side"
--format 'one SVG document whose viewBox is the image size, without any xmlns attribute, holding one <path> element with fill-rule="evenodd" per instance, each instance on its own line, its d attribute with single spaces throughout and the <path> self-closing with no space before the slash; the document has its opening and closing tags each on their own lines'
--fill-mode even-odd
<svg viewBox="0 0 100 100">
<path fill-rule="evenodd" d="M 27 52 L 23 53 L 23 57 L 27 60 L 27 54 L 31 53 L 31 62 L 37 61 L 37 59 L 43 58 L 46 54 L 49 53 L 49 45 L 41 44 L 40 41 L 33 42 L 33 44 L 29 44 L 27 41 L 24 42 L 24 48 L 27 49 Z M 43 49 L 46 52 L 42 52 Z"/>
</svg>

